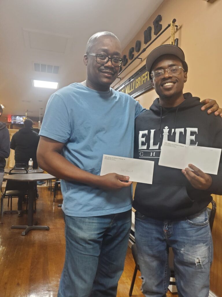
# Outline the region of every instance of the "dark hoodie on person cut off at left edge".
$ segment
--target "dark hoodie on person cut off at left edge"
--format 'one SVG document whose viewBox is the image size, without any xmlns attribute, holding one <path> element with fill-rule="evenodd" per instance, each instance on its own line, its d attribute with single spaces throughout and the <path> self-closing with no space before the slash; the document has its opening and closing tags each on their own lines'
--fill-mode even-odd
<svg viewBox="0 0 222 297">
<path fill-rule="evenodd" d="M 9 130 L 6 128 L 6 123 L 0 122 L 0 172 L 4 172 L 5 159 L 10 154 L 10 137 Z"/>
</svg>

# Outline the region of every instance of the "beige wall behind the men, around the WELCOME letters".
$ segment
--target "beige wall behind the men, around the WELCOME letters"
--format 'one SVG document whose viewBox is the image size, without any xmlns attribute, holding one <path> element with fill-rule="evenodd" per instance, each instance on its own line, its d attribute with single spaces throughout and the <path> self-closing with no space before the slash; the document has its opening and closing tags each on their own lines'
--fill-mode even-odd
<svg viewBox="0 0 222 297">
<path fill-rule="evenodd" d="M 213 2 L 213 0 L 212 0 Z M 139 5 L 139 2 L 138 2 Z M 132 12 L 133 13 L 133 12 Z M 135 47 L 136 40 L 141 40 L 143 44 L 143 32 L 148 26 L 152 27 L 156 16 L 162 15 L 163 29 L 176 18 L 179 29 L 175 38 L 179 38 L 179 46 L 184 50 L 185 58 L 188 63 L 188 80 L 184 87 L 184 92 L 191 92 L 194 96 L 201 99 L 216 99 L 222 107 L 221 78 L 222 78 L 222 0 L 215 0 L 209 3 L 203 0 L 165 0 L 156 10 L 152 17 L 141 28 L 135 38 L 123 50 L 123 54 L 128 57 L 128 51 Z M 123 72 L 122 80 L 115 84 L 114 88 L 122 84 L 136 70 L 141 68 L 146 61 L 147 55 L 155 47 L 170 42 L 170 29 L 167 29 L 161 37 L 141 55 L 142 62 L 135 61 Z M 128 62 L 129 63 L 129 62 Z M 124 67 L 123 67 L 124 68 Z M 137 97 L 141 105 L 149 108 L 156 98 L 154 90 L 148 91 Z M 213 227 L 214 242 L 214 262 L 211 267 L 210 290 L 218 297 L 222 296 L 222 196 L 213 196 L 217 203 L 217 212 Z"/>
</svg>

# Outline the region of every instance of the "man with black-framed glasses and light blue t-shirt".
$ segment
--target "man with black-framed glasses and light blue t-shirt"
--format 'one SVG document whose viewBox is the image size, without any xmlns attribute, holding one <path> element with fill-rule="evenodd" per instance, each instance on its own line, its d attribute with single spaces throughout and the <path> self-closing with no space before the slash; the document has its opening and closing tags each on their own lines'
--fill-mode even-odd
<svg viewBox="0 0 222 297">
<path fill-rule="evenodd" d="M 58 296 L 113 297 L 131 228 L 131 182 L 99 174 L 103 154 L 133 157 L 134 120 L 144 109 L 110 88 L 122 63 L 114 34 L 90 37 L 83 62 L 87 79 L 47 103 L 37 159 L 61 178 L 66 256 Z"/>
</svg>

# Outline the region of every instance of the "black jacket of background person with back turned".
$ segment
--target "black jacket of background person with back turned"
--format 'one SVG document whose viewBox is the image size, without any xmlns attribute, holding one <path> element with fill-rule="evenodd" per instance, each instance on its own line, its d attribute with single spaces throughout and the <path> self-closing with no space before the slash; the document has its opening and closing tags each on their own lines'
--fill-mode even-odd
<svg viewBox="0 0 222 297">
<path fill-rule="evenodd" d="M 39 136 L 32 128 L 22 128 L 12 136 L 11 149 L 15 150 L 15 162 L 28 163 L 32 158 L 36 160 L 36 151 L 38 147 Z"/>
</svg>

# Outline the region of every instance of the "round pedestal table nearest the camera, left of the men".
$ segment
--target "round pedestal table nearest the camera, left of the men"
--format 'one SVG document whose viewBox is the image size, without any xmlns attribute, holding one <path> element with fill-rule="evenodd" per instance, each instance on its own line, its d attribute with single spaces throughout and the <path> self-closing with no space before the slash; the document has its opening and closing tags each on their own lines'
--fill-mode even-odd
<svg viewBox="0 0 222 297">
<path fill-rule="evenodd" d="M 28 181 L 28 225 L 12 225 L 12 229 L 25 229 L 22 235 L 26 235 L 30 230 L 41 229 L 49 230 L 49 226 L 33 225 L 33 202 L 35 197 L 35 182 L 55 179 L 51 174 L 33 173 L 33 174 L 10 174 L 4 176 L 6 180 L 12 181 Z"/>
</svg>

